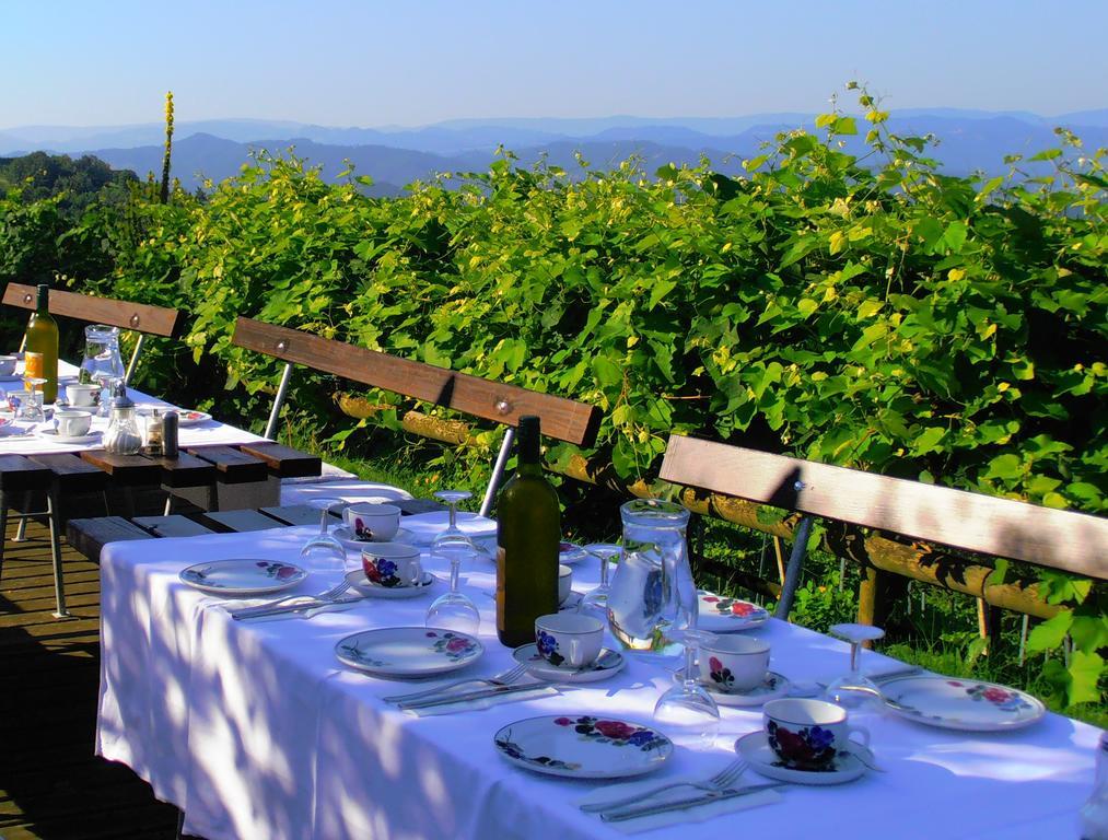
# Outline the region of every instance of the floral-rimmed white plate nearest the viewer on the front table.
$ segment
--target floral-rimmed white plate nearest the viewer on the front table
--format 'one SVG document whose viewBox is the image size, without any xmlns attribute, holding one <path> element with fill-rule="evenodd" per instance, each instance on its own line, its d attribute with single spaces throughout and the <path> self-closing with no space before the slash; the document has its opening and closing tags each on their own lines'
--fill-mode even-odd
<svg viewBox="0 0 1108 840">
<path fill-rule="evenodd" d="M 673 741 L 653 727 L 593 715 L 516 720 L 493 742 L 513 765 L 571 779 L 640 776 L 674 752 Z"/>
</svg>

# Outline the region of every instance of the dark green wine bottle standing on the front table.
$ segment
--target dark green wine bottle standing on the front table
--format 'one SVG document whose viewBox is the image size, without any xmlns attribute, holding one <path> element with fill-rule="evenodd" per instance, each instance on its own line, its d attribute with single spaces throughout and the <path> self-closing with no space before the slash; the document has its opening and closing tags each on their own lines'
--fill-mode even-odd
<svg viewBox="0 0 1108 840">
<path fill-rule="evenodd" d="M 538 418 L 521 417 L 515 475 L 496 505 L 496 635 L 519 647 L 535 639 L 535 618 L 557 612 L 562 515 L 543 477 Z"/>
</svg>

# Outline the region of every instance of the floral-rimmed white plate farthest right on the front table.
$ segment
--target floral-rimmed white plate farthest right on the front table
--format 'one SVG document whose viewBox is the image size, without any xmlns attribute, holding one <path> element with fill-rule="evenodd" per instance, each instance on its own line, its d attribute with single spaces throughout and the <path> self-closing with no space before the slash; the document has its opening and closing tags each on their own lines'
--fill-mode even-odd
<svg viewBox="0 0 1108 840">
<path fill-rule="evenodd" d="M 970 733 L 1019 729 L 1046 714 L 1046 707 L 1029 694 L 974 679 L 901 677 L 883 682 L 881 694 L 901 717 Z"/>
</svg>

